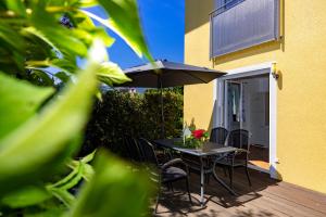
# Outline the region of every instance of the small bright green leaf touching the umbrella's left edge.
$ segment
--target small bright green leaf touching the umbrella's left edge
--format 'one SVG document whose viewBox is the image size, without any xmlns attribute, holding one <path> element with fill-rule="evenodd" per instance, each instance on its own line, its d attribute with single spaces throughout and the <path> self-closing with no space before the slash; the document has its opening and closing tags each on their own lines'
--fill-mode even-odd
<svg viewBox="0 0 326 217">
<path fill-rule="evenodd" d="M 98 79 L 102 82 L 105 82 L 109 86 L 113 86 L 113 84 L 123 84 L 126 81 L 130 81 L 124 72 L 112 62 L 104 62 L 101 64 L 101 68 L 97 73 Z"/>
</svg>

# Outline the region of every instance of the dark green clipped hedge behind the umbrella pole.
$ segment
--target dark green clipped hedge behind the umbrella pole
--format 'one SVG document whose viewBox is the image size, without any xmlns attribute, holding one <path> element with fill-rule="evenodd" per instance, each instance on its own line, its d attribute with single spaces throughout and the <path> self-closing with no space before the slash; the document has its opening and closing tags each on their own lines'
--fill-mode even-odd
<svg viewBox="0 0 326 217">
<path fill-rule="evenodd" d="M 179 91 L 163 91 L 165 137 L 178 137 L 183 128 L 183 94 Z M 118 152 L 123 137 L 156 139 L 161 136 L 160 92 L 145 93 L 106 91 L 102 102 L 95 105 L 86 129 L 82 154 L 98 146 Z"/>
</svg>

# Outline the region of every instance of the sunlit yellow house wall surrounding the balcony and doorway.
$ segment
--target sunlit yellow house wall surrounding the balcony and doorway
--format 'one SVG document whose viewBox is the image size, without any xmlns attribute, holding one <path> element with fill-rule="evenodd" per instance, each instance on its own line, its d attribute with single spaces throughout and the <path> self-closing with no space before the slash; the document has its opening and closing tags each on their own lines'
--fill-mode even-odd
<svg viewBox="0 0 326 217">
<path fill-rule="evenodd" d="M 204 4 L 205 5 L 202 5 Z M 309 5 L 309 7 L 306 7 Z M 212 0 L 186 0 L 185 62 L 221 71 L 276 61 L 277 171 L 326 193 L 326 3 L 284 2 L 284 39 L 209 60 Z M 185 119 L 209 128 L 213 85 L 185 88 Z"/>
</svg>

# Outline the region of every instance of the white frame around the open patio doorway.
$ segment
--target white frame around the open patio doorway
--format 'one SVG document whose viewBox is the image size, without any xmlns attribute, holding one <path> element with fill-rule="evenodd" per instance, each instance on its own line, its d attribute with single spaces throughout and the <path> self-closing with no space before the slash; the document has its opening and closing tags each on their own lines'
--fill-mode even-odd
<svg viewBox="0 0 326 217">
<path fill-rule="evenodd" d="M 222 88 L 220 87 L 218 81 L 233 79 L 233 78 L 241 78 L 241 77 L 250 77 L 250 76 L 258 76 L 258 75 L 269 75 L 269 175 L 272 178 L 277 178 L 277 171 L 276 166 L 278 164 L 278 158 L 276 155 L 276 143 L 277 143 L 277 79 L 275 79 L 272 75 L 273 73 L 273 65 L 276 64 L 276 62 L 267 62 L 262 63 L 258 65 L 250 65 L 246 67 L 240 68 L 234 68 L 230 71 L 226 71 L 227 75 L 222 76 L 218 79 L 214 80 L 214 88 L 213 88 L 213 102 L 215 104 L 214 111 L 213 111 L 213 127 L 217 127 L 217 118 L 224 118 L 222 116 L 217 117 L 217 115 L 221 115 L 217 113 L 218 105 L 217 102 L 217 95 L 218 94 L 225 94 L 224 91 L 222 91 Z M 218 90 L 218 89 L 220 90 Z M 220 93 L 218 93 L 220 92 Z M 223 114 L 224 116 L 224 114 Z M 223 120 L 224 122 L 224 120 Z M 258 169 L 256 167 L 254 167 Z"/>
</svg>

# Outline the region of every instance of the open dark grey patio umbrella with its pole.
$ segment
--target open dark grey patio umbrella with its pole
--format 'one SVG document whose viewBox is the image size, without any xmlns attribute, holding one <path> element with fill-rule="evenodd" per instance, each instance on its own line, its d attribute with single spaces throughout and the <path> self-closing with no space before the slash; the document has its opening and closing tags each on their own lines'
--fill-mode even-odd
<svg viewBox="0 0 326 217">
<path fill-rule="evenodd" d="M 161 98 L 161 127 L 162 138 L 164 137 L 164 112 L 163 112 L 163 88 L 208 84 L 215 78 L 218 78 L 226 73 L 209 69 L 206 67 L 198 67 L 183 63 L 174 63 L 164 61 L 155 61 L 153 64 L 148 63 L 140 66 L 135 66 L 124 71 L 125 74 L 133 80 L 120 85 L 120 87 L 142 87 L 142 88 L 159 88 Z"/>
</svg>

